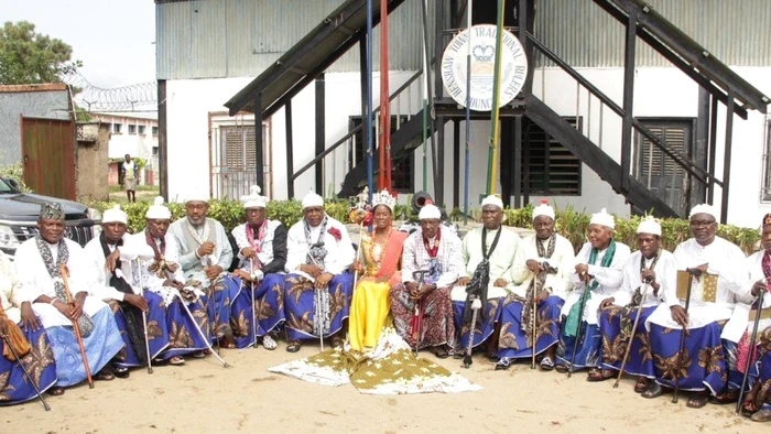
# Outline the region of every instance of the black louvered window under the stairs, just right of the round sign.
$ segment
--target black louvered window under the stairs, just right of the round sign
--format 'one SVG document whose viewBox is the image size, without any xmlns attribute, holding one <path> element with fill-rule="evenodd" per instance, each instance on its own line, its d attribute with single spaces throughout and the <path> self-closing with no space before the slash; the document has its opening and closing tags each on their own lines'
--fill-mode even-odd
<svg viewBox="0 0 771 434">
<path fill-rule="evenodd" d="M 574 127 L 578 122 L 580 129 L 580 118 L 564 119 Z M 523 150 L 528 153 L 528 158 L 522 159 L 522 185 L 528 183 L 530 194 L 579 196 L 580 160 L 528 118 L 523 119 L 522 133 Z"/>
</svg>

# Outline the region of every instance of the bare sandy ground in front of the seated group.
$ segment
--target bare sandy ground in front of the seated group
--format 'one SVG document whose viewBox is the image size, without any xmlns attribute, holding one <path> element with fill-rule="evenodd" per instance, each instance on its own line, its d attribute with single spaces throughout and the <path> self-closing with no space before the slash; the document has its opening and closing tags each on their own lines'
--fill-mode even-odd
<svg viewBox="0 0 771 434">
<path fill-rule="evenodd" d="M 768 424 L 736 416 L 731 405 L 687 409 L 686 399 L 639 398 L 633 381 L 589 383 L 578 372 L 531 371 L 529 364 L 493 371 L 481 356 L 470 369 L 459 360 L 441 364 L 461 371 L 482 391 L 458 394 L 373 397 L 351 386 L 325 387 L 273 375 L 267 368 L 318 350 L 298 354 L 263 348 L 224 350 L 224 369 L 211 356 L 184 367 L 137 369 L 131 378 L 80 384 L 63 397 L 0 408 L 0 433 L 230 433 L 260 432 L 769 432 Z M 425 357 L 433 358 L 427 352 Z"/>
</svg>

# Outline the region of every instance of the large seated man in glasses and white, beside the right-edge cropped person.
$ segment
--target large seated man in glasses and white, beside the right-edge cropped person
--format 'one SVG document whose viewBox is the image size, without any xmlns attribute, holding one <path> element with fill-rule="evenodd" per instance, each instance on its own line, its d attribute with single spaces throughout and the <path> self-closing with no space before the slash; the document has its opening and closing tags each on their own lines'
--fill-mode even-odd
<svg viewBox="0 0 771 434">
<path fill-rule="evenodd" d="M 661 395 L 662 387 L 674 387 L 675 378 L 681 390 L 697 392 L 688 399 L 689 408 L 706 405 L 710 393 L 718 402 L 736 401 L 738 395 L 738 384 L 728 384 L 738 377 L 736 343 L 743 330 L 728 326 L 725 330 L 721 328 L 731 318 L 736 303 L 750 303 L 752 297 L 747 284 L 749 274 L 745 253 L 715 236 L 716 216 L 717 210 L 712 205 L 695 206 L 691 210 L 693 238 L 680 243 L 674 251 L 678 270 L 698 270 L 701 273 L 692 279 L 688 312 L 683 307 L 685 301 L 678 300 L 676 287 L 672 287 L 665 294 L 666 305 L 659 306 L 648 318 L 656 380 L 643 393 L 645 398 Z M 717 289 L 704 284 L 707 273 L 717 275 Z M 743 319 L 747 324 L 746 316 Z M 678 357 L 684 326 L 688 333 L 682 357 Z M 725 335 L 723 343 L 721 333 Z M 678 358 L 683 362 L 682 370 L 677 369 Z M 687 375 L 683 377 L 681 372 Z"/>
</svg>

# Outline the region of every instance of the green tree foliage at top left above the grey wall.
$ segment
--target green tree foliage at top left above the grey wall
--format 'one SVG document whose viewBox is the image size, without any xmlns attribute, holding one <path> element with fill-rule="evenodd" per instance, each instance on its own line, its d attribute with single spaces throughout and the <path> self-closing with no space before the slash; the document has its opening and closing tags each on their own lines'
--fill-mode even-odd
<svg viewBox="0 0 771 434">
<path fill-rule="evenodd" d="M 61 40 L 35 33 L 28 21 L 0 28 L 0 84 L 58 83 L 83 66 L 72 61 L 73 47 Z"/>
</svg>

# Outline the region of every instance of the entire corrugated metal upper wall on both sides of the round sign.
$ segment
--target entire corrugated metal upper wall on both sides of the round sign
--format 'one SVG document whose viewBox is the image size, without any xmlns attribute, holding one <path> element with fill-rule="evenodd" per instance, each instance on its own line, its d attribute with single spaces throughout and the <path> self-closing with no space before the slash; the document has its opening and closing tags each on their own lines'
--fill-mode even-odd
<svg viewBox="0 0 771 434">
<path fill-rule="evenodd" d="M 428 0 L 430 45 L 434 40 L 435 1 Z M 258 76 L 343 2 L 156 1 L 158 78 Z M 771 1 L 649 0 L 649 3 L 723 63 L 771 65 Z M 535 35 L 569 65 L 623 65 L 623 25 L 591 0 L 539 0 L 535 6 Z M 409 0 L 399 7 L 391 13 L 389 24 L 391 69 L 420 68 L 420 0 Z M 638 42 L 638 66 L 670 66 L 659 53 Z M 379 28 L 374 29 L 372 45 L 373 67 L 378 70 Z M 349 51 L 329 70 L 359 70 L 358 48 Z"/>
</svg>

